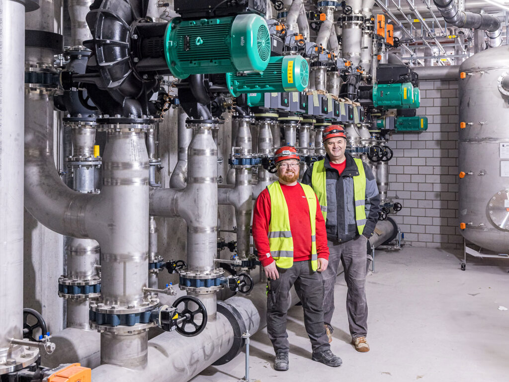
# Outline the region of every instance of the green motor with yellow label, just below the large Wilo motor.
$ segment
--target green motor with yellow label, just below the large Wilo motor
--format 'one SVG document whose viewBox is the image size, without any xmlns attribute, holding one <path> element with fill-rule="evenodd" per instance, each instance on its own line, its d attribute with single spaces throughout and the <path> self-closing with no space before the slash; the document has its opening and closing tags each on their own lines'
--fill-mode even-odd
<svg viewBox="0 0 509 382">
<path fill-rule="evenodd" d="M 227 73 L 228 90 L 243 93 L 301 92 L 309 82 L 309 66 L 302 56 L 272 56 L 263 72 Z"/>
</svg>

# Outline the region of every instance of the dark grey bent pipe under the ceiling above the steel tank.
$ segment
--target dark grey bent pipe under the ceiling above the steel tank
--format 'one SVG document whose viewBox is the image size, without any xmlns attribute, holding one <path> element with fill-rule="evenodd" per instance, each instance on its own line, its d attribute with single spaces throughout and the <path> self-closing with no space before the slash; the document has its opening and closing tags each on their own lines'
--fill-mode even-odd
<svg viewBox="0 0 509 382">
<path fill-rule="evenodd" d="M 458 28 L 473 28 L 486 31 L 490 47 L 496 47 L 502 43 L 502 26 L 498 17 L 460 11 L 455 0 L 433 0 L 433 3 L 435 3 L 447 23 Z"/>
</svg>

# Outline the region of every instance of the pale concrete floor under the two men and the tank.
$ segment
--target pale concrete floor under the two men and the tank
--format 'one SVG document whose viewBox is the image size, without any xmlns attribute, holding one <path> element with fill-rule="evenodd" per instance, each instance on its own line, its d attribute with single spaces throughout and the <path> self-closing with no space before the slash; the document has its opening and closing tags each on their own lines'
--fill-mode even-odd
<svg viewBox="0 0 509 382">
<path fill-rule="evenodd" d="M 330 368 L 310 359 L 302 308 L 289 312 L 290 370 L 273 369 L 273 349 L 262 330 L 251 337 L 249 377 L 272 381 L 495 382 L 509 380 L 509 260 L 467 258 L 462 251 L 404 248 L 377 252 L 367 277 L 371 351 L 350 345 L 346 286 L 336 281 L 332 351 L 343 359 Z M 244 376 L 242 352 L 211 366 L 193 382 L 229 382 Z"/>
</svg>

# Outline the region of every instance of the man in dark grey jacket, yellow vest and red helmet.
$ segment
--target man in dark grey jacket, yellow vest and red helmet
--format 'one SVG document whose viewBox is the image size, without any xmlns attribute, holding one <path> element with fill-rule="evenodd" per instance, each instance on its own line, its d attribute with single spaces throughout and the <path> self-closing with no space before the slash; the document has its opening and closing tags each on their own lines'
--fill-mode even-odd
<svg viewBox="0 0 509 382">
<path fill-rule="evenodd" d="M 367 270 L 367 240 L 378 221 L 380 196 L 375 177 L 360 159 L 345 152 L 347 136 L 343 126 L 331 125 L 323 131 L 327 155 L 313 163 L 302 182 L 318 196 L 325 218 L 329 267 L 323 272 L 324 321 L 332 341 L 334 284 L 340 261 L 347 283 L 347 315 L 352 343 L 357 351 L 370 350 L 367 344 L 367 303 L 364 285 Z"/>
</svg>

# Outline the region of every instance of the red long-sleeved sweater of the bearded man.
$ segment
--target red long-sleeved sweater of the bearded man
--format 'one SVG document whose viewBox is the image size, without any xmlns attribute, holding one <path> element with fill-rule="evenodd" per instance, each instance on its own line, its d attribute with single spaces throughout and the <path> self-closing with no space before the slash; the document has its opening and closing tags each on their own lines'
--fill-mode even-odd
<svg viewBox="0 0 509 382">
<path fill-rule="evenodd" d="M 290 216 L 290 231 L 293 238 L 293 261 L 305 261 L 311 259 L 311 224 L 309 222 L 309 205 L 302 186 L 297 183 L 294 186 L 281 184 L 281 190 L 285 196 Z M 271 264 L 274 259 L 270 255 L 269 246 L 269 223 L 270 223 L 270 195 L 265 188 L 256 203 L 253 211 L 253 240 L 258 250 L 258 257 L 263 266 Z M 320 210 L 317 198 L 316 215 L 316 245 L 318 257 L 329 259 L 327 247 L 327 232 L 325 221 Z"/>
</svg>

